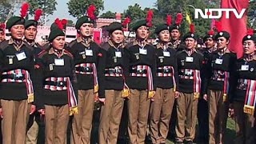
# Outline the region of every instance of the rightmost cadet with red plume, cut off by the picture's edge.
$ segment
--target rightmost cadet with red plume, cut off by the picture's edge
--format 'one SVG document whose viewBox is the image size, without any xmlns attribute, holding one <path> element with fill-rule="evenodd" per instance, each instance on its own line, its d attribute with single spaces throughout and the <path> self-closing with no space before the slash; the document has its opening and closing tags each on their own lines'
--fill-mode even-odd
<svg viewBox="0 0 256 144">
<path fill-rule="evenodd" d="M 244 55 L 238 59 L 236 70 L 236 89 L 231 102 L 234 107 L 234 121 L 236 123 L 235 144 L 254 144 L 256 142 L 254 109 L 256 103 L 256 37 L 253 30 L 242 38 Z"/>
</svg>

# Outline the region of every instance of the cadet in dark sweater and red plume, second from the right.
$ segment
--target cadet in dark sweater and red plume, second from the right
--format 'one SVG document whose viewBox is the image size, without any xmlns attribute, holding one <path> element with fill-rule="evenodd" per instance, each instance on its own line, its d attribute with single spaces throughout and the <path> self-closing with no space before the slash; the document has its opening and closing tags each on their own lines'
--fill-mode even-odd
<svg viewBox="0 0 256 144">
<path fill-rule="evenodd" d="M 208 101 L 209 108 L 209 143 L 223 143 L 223 134 L 226 130 L 228 114 L 228 96 L 234 85 L 234 69 L 236 54 L 227 49 L 230 34 L 217 25 L 217 50 L 207 62 L 208 68 L 207 90 L 203 90 L 203 98 Z"/>
</svg>

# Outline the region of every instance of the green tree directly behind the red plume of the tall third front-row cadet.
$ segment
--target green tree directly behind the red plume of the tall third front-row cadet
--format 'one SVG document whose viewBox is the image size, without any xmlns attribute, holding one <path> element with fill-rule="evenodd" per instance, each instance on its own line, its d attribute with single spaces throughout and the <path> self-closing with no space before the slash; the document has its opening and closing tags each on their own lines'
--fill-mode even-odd
<svg viewBox="0 0 256 144">
<path fill-rule="evenodd" d="M 82 15 L 86 14 L 86 10 L 91 4 L 94 4 L 96 8 L 96 16 L 98 16 L 99 10 L 104 10 L 103 0 L 70 0 L 69 2 L 67 2 L 69 13 L 75 18 L 79 18 Z"/>
</svg>

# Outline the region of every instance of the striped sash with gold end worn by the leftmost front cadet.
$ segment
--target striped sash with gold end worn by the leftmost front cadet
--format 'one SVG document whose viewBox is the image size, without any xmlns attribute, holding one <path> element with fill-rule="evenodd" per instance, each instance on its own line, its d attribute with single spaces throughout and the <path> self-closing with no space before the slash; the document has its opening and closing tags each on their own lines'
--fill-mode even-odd
<svg viewBox="0 0 256 144">
<path fill-rule="evenodd" d="M 34 102 L 34 88 L 33 83 L 30 79 L 30 73 L 27 70 L 16 69 L 10 70 L 2 73 L 2 83 L 25 83 L 26 84 L 26 93 L 27 101 L 29 103 Z"/>
</svg>

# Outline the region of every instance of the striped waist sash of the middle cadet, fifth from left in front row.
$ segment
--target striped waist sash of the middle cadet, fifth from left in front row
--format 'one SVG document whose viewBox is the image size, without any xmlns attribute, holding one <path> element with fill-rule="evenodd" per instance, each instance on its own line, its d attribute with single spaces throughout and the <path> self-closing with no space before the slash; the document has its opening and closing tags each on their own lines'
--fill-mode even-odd
<svg viewBox="0 0 256 144">
<path fill-rule="evenodd" d="M 154 97 L 153 75 L 152 75 L 150 66 L 146 66 L 146 65 L 132 66 L 132 70 L 135 70 L 135 72 L 130 73 L 130 76 L 147 78 L 148 98 L 153 98 Z"/>
</svg>

